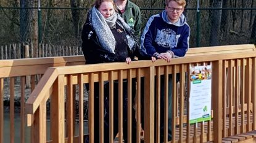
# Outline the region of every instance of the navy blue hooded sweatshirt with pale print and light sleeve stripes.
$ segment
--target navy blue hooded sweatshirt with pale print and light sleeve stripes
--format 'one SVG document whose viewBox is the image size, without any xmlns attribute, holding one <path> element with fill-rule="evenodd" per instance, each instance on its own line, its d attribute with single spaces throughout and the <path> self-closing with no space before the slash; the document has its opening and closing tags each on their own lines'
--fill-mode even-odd
<svg viewBox="0 0 256 143">
<path fill-rule="evenodd" d="M 189 48 L 189 35 L 190 28 L 183 14 L 176 23 L 171 23 L 163 10 L 147 21 L 141 36 L 141 49 L 151 56 L 168 51 L 184 56 Z"/>
</svg>

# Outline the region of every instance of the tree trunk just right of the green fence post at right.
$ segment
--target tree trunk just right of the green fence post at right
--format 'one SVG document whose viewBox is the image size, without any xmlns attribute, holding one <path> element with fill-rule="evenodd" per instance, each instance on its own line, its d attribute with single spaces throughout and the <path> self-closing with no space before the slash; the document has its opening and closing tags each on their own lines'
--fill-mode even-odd
<svg viewBox="0 0 256 143">
<path fill-rule="evenodd" d="M 222 7 L 222 0 L 213 0 L 214 8 Z M 218 37 L 220 31 L 220 22 L 221 22 L 221 10 L 213 10 L 214 14 L 212 14 L 212 29 L 210 34 L 210 45 L 215 46 L 218 45 Z"/>
</svg>

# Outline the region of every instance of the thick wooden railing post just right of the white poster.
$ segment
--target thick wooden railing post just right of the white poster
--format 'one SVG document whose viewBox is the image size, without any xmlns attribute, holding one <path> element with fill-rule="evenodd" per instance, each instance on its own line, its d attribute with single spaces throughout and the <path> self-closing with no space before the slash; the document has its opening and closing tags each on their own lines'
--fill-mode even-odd
<svg viewBox="0 0 256 143">
<path fill-rule="evenodd" d="M 222 142 L 222 75 L 223 61 L 212 62 L 213 142 Z M 225 121 L 225 120 L 224 120 Z"/>
</svg>

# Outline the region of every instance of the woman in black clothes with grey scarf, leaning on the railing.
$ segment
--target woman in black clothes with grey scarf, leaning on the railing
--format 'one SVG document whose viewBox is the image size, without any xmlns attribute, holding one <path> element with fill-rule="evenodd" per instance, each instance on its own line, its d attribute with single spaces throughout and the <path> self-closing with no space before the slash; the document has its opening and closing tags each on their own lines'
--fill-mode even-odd
<svg viewBox="0 0 256 143">
<path fill-rule="evenodd" d="M 134 31 L 123 18 L 115 12 L 113 0 L 96 0 L 89 10 L 83 26 L 83 54 L 86 64 L 126 62 L 131 63 L 135 56 L 139 60 L 151 60 L 142 52 Z M 128 85 L 123 82 L 123 138 L 127 141 L 128 125 Z M 88 87 L 86 87 L 88 88 Z M 89 89 L 89 88 L 88 88 Z M 104 88 L 104 142 L 109 142 L 109 83 Z M 135 113 L 135 112 L 133 112 Z M 132 120 L 132 141 L 136 142 L 136 118 Z M 114 137 L 118 133 L 118 82 L 114 82 Z M 94 83 L 94 142 L 99 142 L 99 83 Z M 113 138 L 114 139 L 114 138 Z M 89 141 L 86 137 L 85 142 Z"/>
</svg>

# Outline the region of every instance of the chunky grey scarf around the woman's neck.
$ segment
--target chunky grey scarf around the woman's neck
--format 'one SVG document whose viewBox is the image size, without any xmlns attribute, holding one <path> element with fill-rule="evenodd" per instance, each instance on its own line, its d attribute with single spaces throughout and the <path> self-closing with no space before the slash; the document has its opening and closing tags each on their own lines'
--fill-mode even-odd
<svg viewBox="0 0 256 143">
<path fill-rule="evenodd" d="M 104 18 L 101 12 L 99 12 L 95 6 L 91 10 L 91 21 L 97 37 L 99 38 L 100 44 L 103 48 L 105 48 L 105 50 L 111 53 L 115 53 L 115 37 L 110 28 L 115 28 L 115 25 L 118 24 L 125 29 L 127 33 L 134 33 L 133 29 L 131 29 L 130 26 L 125 23 L 120 15 L 114 12 L 114 14 L 110 17 Z M 128 47 L 131 49 L 134 45 L 134 39 L 129 35 L 126 37 L 128 39 Z"/>
</svg>

